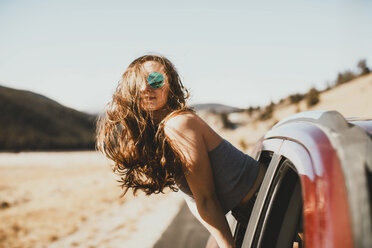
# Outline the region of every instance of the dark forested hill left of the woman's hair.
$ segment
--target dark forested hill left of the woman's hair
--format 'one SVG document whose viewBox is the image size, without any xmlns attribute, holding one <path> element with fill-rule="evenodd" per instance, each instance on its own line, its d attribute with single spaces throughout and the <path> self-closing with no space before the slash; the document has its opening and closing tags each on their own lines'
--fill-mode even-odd
<svg viewBox="0 0 372 248">
<path fill-rule="evenodd" d="M 0 150 L 94 149 L 95 116 L 0 86 Z"/>
</svg>

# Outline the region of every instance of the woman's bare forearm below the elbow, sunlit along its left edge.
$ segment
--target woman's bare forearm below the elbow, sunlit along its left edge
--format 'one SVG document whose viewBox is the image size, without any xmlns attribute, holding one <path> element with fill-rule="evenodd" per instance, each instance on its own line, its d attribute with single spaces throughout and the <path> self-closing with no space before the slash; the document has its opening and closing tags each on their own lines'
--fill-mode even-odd
<svg viewBox="0 0 372 248">
<path fill-rule="evenodd" d="M 220 248 L 235 247 L 230 227 L 218 198 L 213 195 L 196 201 L 201 222 L 216 239 Z"/>
</svg>

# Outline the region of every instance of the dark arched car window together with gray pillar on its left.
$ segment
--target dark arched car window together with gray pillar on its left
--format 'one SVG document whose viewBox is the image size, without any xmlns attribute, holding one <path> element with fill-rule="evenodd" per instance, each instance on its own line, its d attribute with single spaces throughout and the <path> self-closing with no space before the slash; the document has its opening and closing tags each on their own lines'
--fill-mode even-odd
<svg viewBox="0 0 372 248">
<path fill-rule="evenodd" d="M 260 161 L 270 163 L 271 175 L 266 175 L 241 247 L 304 247 L 303 197 L 296 168 L 290 160 L 268 151 L 261 154 Z"/>
</svg>

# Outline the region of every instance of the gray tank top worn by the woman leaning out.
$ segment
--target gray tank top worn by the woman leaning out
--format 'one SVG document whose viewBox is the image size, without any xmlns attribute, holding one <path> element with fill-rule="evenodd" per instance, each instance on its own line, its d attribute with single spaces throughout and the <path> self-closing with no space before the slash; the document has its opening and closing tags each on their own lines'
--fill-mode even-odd
<svg viewBox="0 0 372 248">
<path fill-rule="evenodd" d="M 235 148 L 230 142 L 222 142 L 208 152 L 213 171 L 217 197 L 226 214 L 233 209 L 252 188 L 258 175 L 259 163 Z M 179 189 L 190 204 L 194 198 L 184 176 L 176 178 Z"/>
</svg>

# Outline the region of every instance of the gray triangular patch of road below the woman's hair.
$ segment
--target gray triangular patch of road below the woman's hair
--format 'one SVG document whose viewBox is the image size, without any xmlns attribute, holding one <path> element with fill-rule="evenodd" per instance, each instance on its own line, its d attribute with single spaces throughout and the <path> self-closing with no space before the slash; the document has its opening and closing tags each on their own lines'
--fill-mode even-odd
<svg viewBox="0 0 372 248">
<path fill-rule="evenodd" d="M 208 237 L 208 231 L 191 214 L 186 203 L 183 203 L 153 248 L 204 248 Z"/>
</svg>

